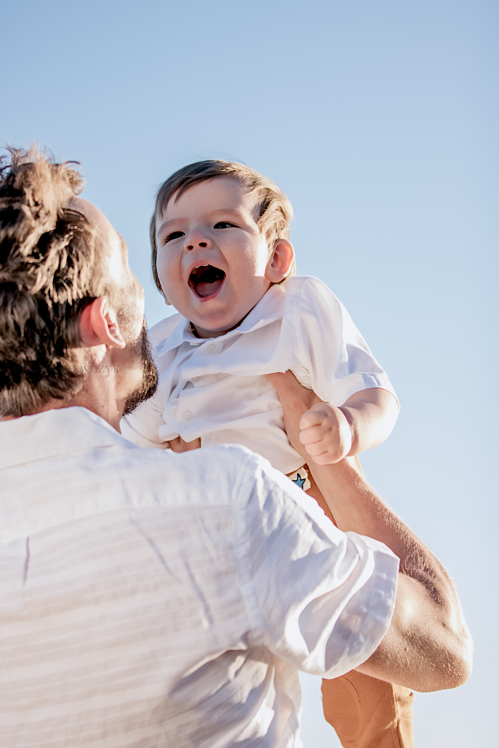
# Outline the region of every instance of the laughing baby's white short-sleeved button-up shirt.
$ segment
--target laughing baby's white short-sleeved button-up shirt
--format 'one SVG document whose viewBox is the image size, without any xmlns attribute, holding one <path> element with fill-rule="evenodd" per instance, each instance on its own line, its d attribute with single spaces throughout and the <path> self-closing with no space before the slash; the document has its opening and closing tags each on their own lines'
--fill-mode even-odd
<svg viewBox="0 0 499 748">
<path fill-rule="evenodd" d="M 290 369 L 332 405 L 368 387 L 395 396 L 349 313 L 317 278 L 295 276 L 272 286 L 242 324 L 221 337 L 200 340 L 180 314 L 151 334 L 159 343 L 158 392 L 121 429 L 140 447 L 167 447 L 179 435 L 200 438 L 201 447 L 243 444 L 282 473 L 293 473 L 304 459 L 288 441 L 266 374 Z"/>
</svg>

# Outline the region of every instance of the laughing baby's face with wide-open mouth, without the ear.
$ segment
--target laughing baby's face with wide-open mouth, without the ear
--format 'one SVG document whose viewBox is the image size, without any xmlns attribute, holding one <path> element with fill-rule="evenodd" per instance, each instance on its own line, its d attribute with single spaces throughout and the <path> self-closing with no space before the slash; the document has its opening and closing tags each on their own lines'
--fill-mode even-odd
<svg viewBox="0 0 499 748">
<path fill-rule="evenodd" d="M 217 177 L 171 198 L 156 220 L 159 281 L 200 337 L 235 327 L 269 289 L 254 194 Z"/>
</svg>

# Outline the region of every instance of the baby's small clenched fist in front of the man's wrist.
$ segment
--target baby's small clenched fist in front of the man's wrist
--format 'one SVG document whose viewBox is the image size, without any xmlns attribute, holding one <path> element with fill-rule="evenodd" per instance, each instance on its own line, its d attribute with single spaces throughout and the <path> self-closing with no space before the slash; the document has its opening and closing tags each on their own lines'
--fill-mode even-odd
<svg viewBox="0 0 499 748">
<path fill-rule="evenodd" d="M 343 411 L 316 402 L 301 416 L 300 441 L 317 465 L 340 462 L 352 449 L 352 430 Z"/>
</svg>

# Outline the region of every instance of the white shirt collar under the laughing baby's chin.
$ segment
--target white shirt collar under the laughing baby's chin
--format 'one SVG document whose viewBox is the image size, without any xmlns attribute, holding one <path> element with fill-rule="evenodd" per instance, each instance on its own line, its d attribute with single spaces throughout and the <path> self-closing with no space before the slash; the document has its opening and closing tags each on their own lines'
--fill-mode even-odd
<svg viewBox="0 0 499 748">
<path fill-rule="evenodd" d="M 282 319 L 284 313 L 284 295 L 286 293 L 286 281 L 276 283 L 260 298 L 248 316 L 243 319 L 241 324 L 217 338 L 217 340 L 227 340 L 234 335 L 252 332 L 259 328 L 270 325 L 276 319 Z M 213 338 L 199 338 L 192 333 L 191 323 L 186 317 L 180 319 L 179 324 L 174 331 L 165 340 L 162 340 L 156 346 L 155 355 L 161 356 L 168 351 L 178 348 L 182 343 L 189 343 L 191 346 L 200 346 Z"/>
</svg>

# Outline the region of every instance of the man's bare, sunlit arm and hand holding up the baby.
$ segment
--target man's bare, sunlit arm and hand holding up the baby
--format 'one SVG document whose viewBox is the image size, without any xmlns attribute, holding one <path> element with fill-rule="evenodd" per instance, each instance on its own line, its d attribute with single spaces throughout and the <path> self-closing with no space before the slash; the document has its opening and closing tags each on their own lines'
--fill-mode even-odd
<svg viewBox="0 0 499 748">
<path fill-rule="evenodd" d="M 304 390 L 290 372 L 268 376 L 281 400 L 290 442 L 307 457 L 299 423 L 319 398 Z M 420 691 L 463 684 L 471 672 L 472 644 L 447 571 L 373 491 L 355 459 L 335 465 L 316 465 L 312 460 L 307 464 L 340 530 L 380 540 L 400 559 L 390 629 L 358 670 Z"/>
</svg>

